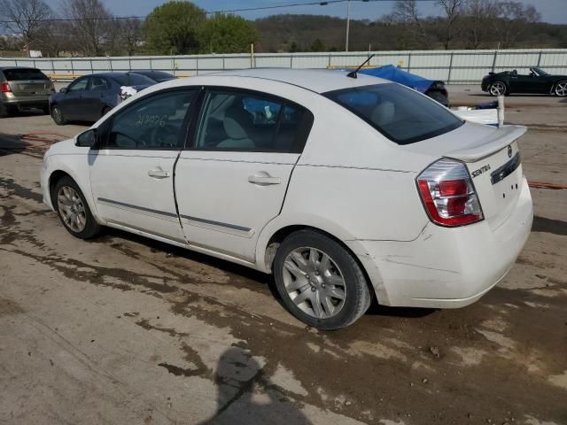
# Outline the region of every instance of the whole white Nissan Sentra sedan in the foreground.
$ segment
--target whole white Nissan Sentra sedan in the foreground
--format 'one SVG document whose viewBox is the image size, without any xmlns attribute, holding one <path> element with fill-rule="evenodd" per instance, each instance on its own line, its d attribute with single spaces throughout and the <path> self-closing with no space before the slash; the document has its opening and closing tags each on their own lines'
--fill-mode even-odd
<svg viewBox="0 0 567 425">
<path fill-rule="evenodd" d="M 349 325 L 375 297 L 469 305 L 530 233 L 525 128 L 356 77 L 256 69 L 152 86 L 51 146 L 44 201 L 77 237 L 121 228 L 272 273 L 316 328 Z"/>
</svg>

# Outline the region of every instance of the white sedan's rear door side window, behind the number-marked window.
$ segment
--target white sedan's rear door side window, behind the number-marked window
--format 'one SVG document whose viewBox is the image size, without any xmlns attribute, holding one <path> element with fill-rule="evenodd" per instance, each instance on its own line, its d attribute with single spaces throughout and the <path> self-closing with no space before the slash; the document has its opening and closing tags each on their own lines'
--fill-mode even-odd
<svg viewBox="0 0 567 425">
<path fill-rule="evenodd" d="M 311 112 L 283 99 L 257 93 L 210 90 L 203 104 L 193 148 L 300 152 L 312 123 Z"/>
</svg>

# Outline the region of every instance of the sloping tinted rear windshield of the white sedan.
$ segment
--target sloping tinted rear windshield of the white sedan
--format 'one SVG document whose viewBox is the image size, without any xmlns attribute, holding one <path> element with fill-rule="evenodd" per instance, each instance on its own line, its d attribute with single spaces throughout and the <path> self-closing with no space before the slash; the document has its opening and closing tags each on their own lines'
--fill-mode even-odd
<svg viewBox="0 0 567 425">
<path fill-rule="evenodd" d="M 443 135 L 463 121 L 444 106 L 395 83 L 341 89 L 324 94 L 368 122 L 392 142 L 409 144 Z"/>
</svg>

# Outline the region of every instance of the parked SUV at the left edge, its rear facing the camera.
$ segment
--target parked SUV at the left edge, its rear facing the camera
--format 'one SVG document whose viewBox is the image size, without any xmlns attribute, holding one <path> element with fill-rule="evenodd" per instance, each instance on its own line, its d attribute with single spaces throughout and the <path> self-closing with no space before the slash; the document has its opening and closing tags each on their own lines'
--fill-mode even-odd
<svg viewBox="0 0 567 425">
<path fill-rule="evenodd" d="M 53 83 L 36 68 L 0 67 L 0 116 L 10 116 L 20 106 L 43 109 L 49 113 Z"/>
</svg>

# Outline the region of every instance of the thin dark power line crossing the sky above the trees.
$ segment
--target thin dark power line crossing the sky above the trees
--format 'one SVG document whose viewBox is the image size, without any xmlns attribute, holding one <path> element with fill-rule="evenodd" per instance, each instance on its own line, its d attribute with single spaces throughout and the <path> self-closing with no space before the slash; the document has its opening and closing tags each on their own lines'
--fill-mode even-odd
<svg viewBox="0 0 567 425">
<path fill-rule="evenodd" d="M 291 3 L 291 4 L 278 4 L 273 6 L 258 6 L 258 7 L 245 7 L 241 9 L 227 9 L 222 11 L 205 11 L 207 15 L 214 15 L 217 13 L 236 13 L 236 12 L 258 12 L 258 11 L 269 11 L 274 9 L 286 9 L 298 6 L 327 6 L 329 4 L 341 4 L 347 2 L 360 2 L 360 3 L 385 3 L 392 2 L 393 0 L 327 0 L 318 2 L 308 2 L 308 3 Z M 435 0 L 416 0 L 417 2 L 432 2 Z M 151 15 L 145 16 L 108 16 L 102 18 L 48 18 L 48 19 L 18 19 L 18 20 L 0 20 L 0 24 L 15 24 L 18 22 L 81 22 L 83 20 L 92 21 L 105 21 L 105 20 L 125 20 L 125 19 L 155 19 L 157 17 L 152 17 Z"/>
</svg>

